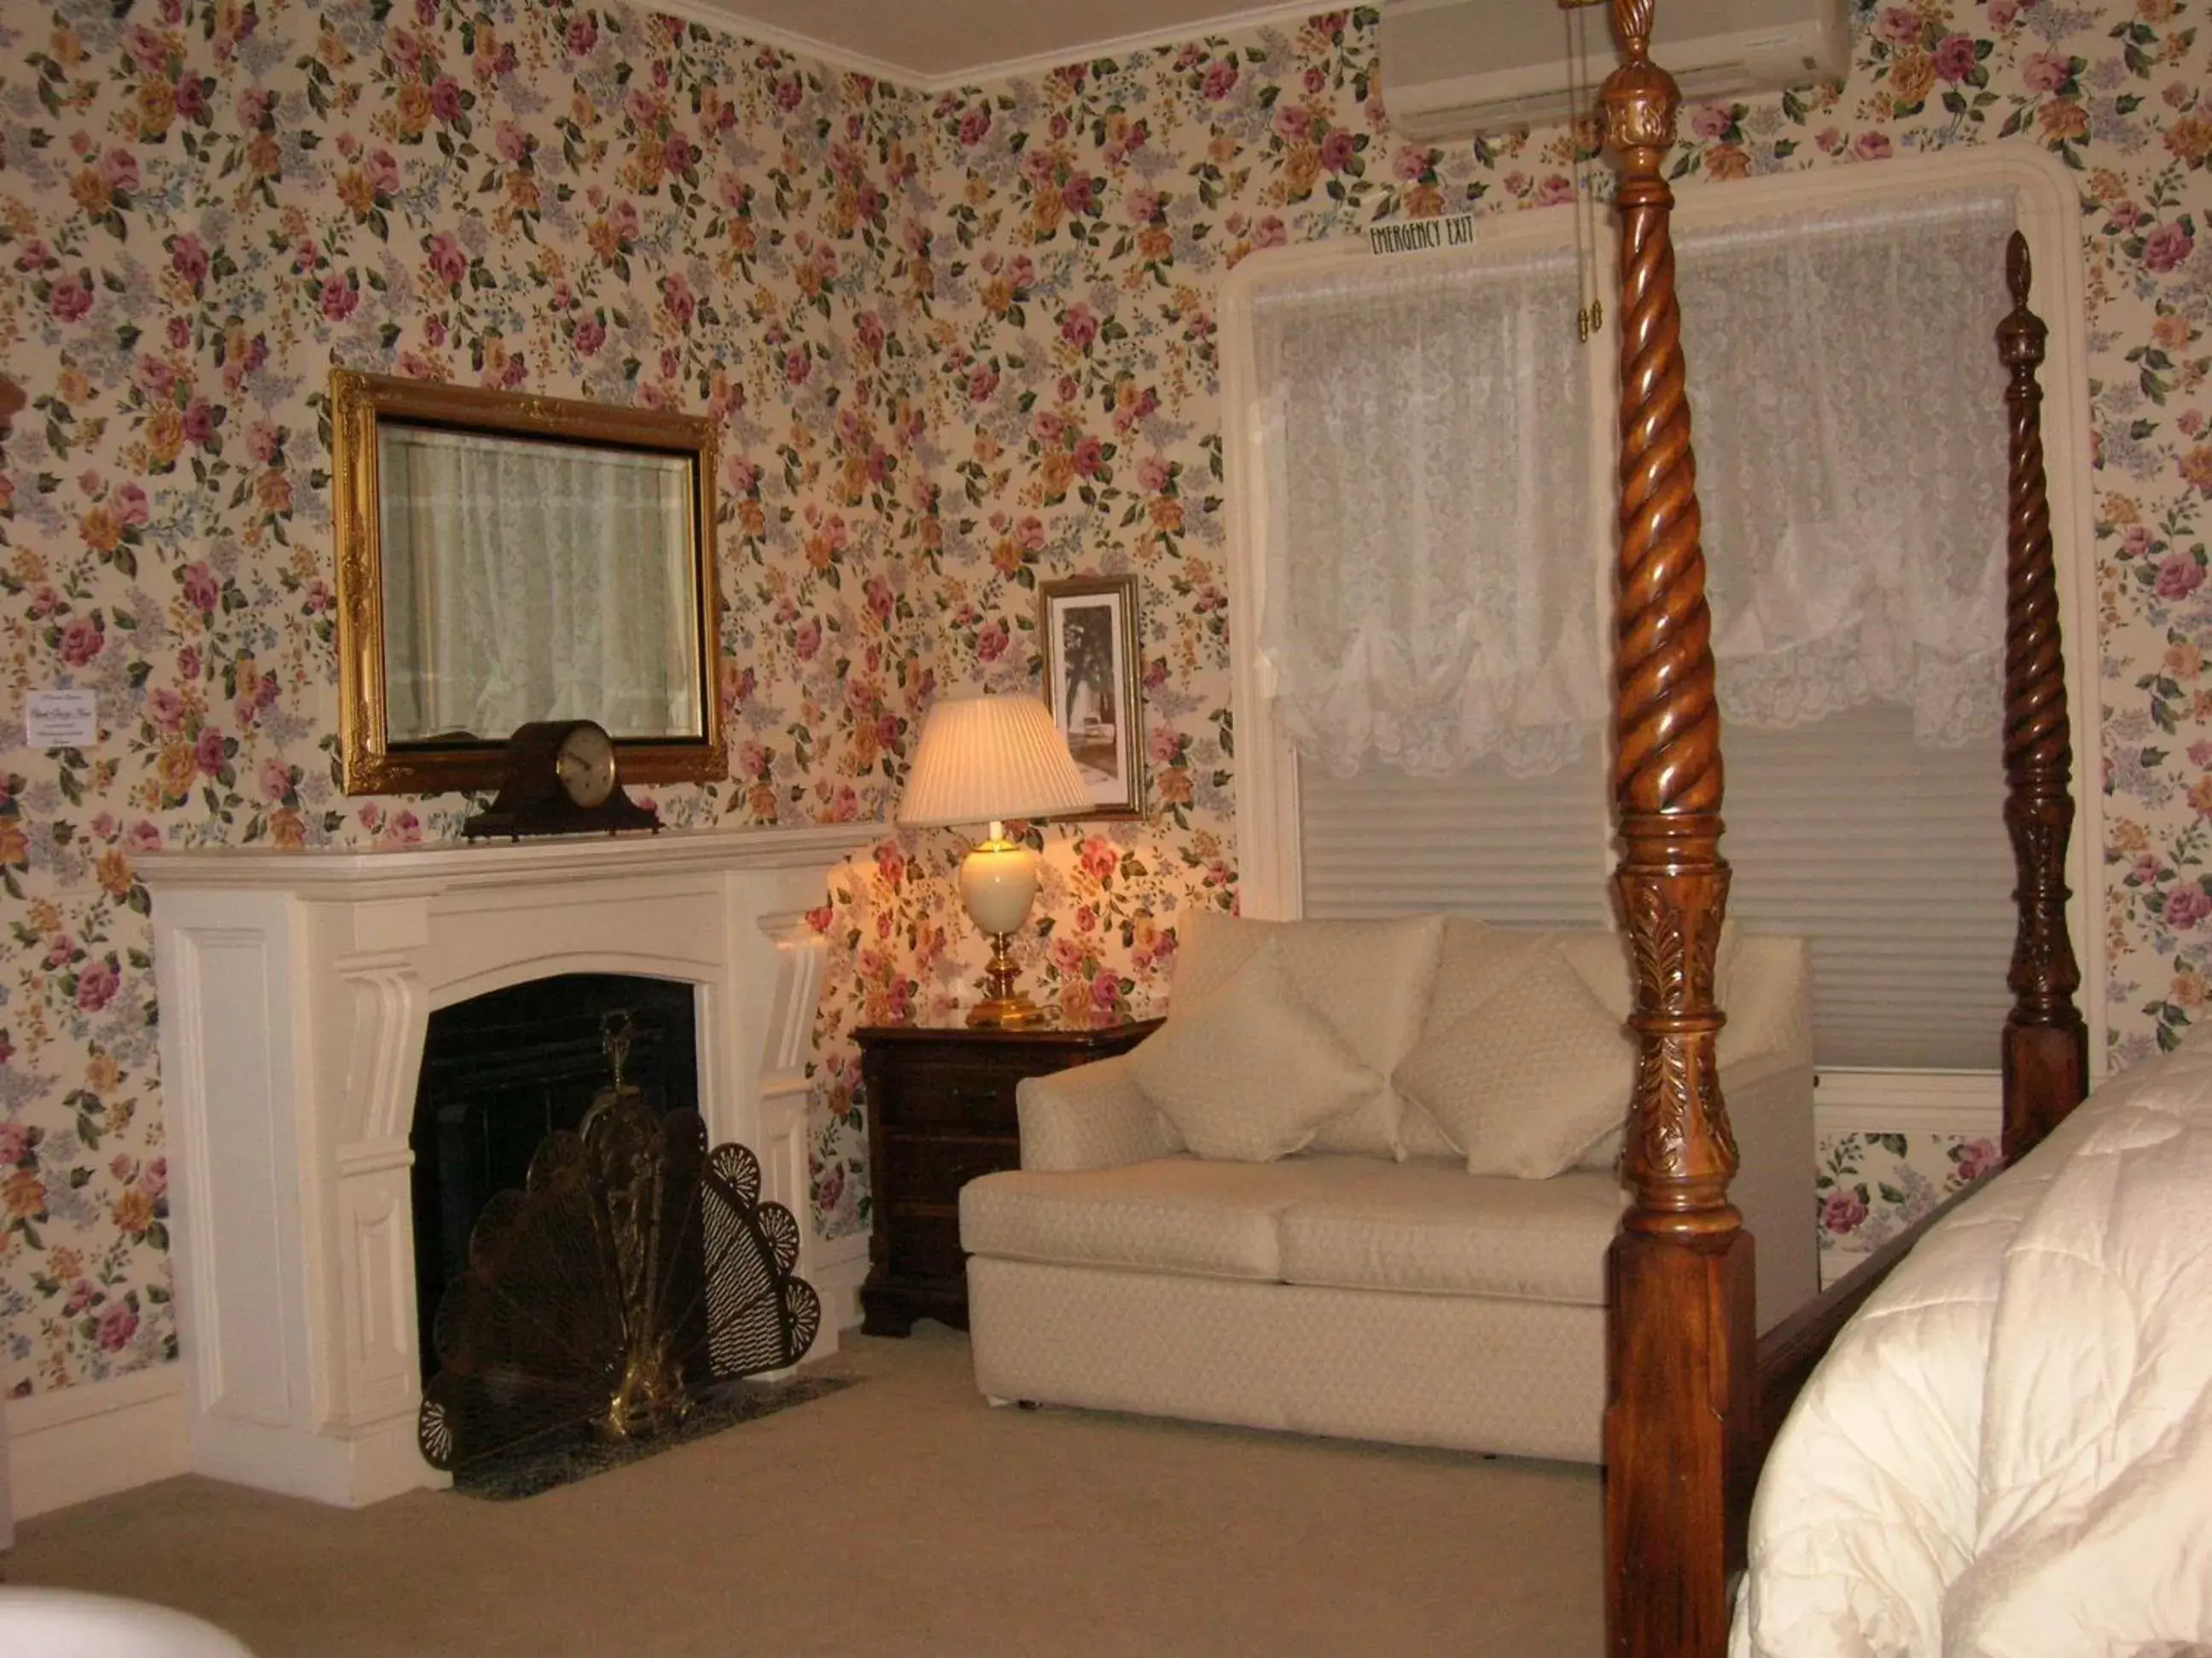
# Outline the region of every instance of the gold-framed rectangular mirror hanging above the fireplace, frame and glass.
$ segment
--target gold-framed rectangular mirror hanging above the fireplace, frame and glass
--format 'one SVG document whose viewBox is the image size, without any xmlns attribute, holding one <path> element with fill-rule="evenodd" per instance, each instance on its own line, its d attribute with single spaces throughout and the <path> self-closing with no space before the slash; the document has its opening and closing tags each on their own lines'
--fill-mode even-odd
<svg viewBox="0 0 2212 1658">
<path fill-rule="evenodd" d="M 710 420 L 352 369 L 330 420 L 347 794 L 498 787 L 546 718 L 728 776 Z"/>
</svg>

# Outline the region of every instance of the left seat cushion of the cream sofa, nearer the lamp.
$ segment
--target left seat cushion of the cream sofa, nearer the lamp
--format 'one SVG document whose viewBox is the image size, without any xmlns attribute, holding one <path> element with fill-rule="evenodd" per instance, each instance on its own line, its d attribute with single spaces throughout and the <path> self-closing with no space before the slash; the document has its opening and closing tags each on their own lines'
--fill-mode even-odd
<svg viewBox="0 0 2212 1658">
<path fill-rule="evenodd" d="M 960 1247 L 1060 1267 L 1279 1282 L 1276 1216 L 1380 1167 L 1394 1165 L 1365 1156 L 1164 1156 L 1117 1169 L 1009 1169 L 960 1187 Z"/>
</svg>

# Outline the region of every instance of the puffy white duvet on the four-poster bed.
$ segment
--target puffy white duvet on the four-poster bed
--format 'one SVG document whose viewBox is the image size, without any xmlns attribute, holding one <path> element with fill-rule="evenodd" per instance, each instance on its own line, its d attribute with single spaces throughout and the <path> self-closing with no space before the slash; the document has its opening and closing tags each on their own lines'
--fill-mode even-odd
<svg viewBox="0 0 2212 1658">
<path fill-rule="evenodd" d="M 2212 1037 L 1936 1227 L 1752 1510 L 1732 1658 L 2212 1658 Z"/>
</svg>

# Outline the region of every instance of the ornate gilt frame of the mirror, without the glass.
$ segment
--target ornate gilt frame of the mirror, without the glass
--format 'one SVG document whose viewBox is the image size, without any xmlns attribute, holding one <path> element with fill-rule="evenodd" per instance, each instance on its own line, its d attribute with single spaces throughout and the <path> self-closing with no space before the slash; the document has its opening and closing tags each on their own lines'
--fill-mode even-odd
<svg viewBox="0 0 2212 1658">
<path fill-rule="evenodd" d="M 480 387 L 330 371 L 332 517 L 338 564 L 338 756 L 347 794 L 493 789 L 502 743 L 389 743 L 385 690 L 383 548 L 376 504 L 380 420 L 522 438 L 653 449 L 692 462 L 692 579 L 699 641 L 697 738 L 624 738 L 624 783 L 714 783 L 730 774 L 721 730 L 714 584 L 714 424 L 703 416 L 624 409 Z"/>
</svg>

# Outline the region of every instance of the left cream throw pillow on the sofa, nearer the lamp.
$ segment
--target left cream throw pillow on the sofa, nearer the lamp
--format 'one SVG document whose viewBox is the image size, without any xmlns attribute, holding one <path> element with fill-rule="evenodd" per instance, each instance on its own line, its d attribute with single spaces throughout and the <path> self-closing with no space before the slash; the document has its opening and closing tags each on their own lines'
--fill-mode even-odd
<svg viewBox="0 0 2212 1658">
<path fill-rule="evenodd" d="M 1298 995 L 1274 940 L 1130 1048 L 1128 1072 L 1201 1158 L 1270 1163 L 1383 1088 Z"/>
</svg>

